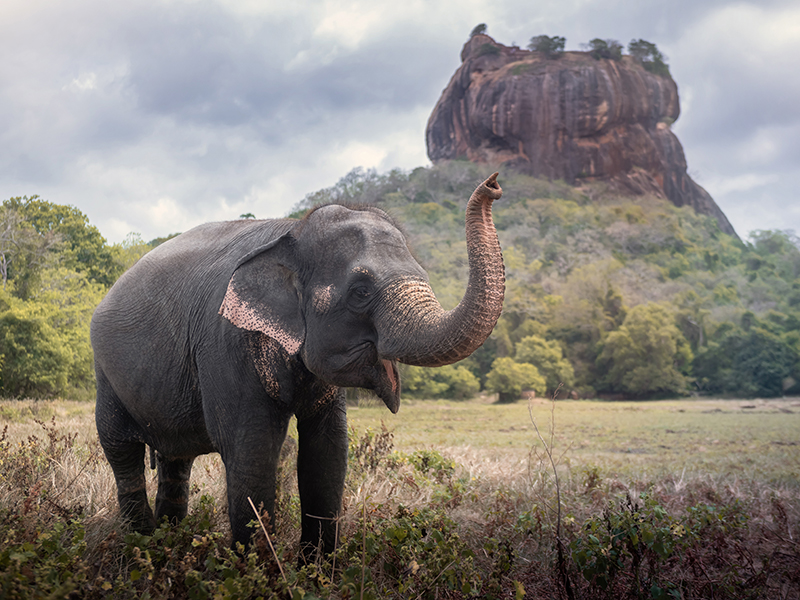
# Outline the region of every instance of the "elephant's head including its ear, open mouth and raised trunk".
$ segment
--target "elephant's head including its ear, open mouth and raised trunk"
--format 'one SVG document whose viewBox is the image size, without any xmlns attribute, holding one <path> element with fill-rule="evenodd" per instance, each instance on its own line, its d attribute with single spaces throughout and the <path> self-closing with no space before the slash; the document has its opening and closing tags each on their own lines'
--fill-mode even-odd
<svg viewBox="0 0 800 600">
<path fill-rule="evenodd" d="M 374 390 L 397 412 L 397 361 L 427 367 L 459 361 L 483 344 L 500 317 L 505 276 L 491 206 L 501 195 L 495 173 L 469 200 L 469 284 L 451 311 L 436 300 L 386 213 L 326 205 L 245 257 L 220 314 L 270 336 L 328 383 Z"/>
</svg>

